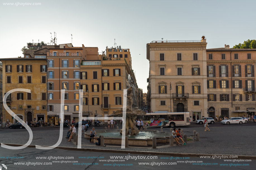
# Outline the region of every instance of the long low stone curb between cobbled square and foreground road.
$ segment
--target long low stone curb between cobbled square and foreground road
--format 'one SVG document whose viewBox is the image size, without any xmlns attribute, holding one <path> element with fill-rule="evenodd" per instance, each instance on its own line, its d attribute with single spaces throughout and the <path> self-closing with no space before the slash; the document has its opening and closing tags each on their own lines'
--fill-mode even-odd
<svg viewBox="0 0 256 170">
<path fill-rule="evenodd" d="M 5 144 L 9 146 L 23 146 L 21 144 Z M 35 145 L 28 145 L 27 147 L 35 148 Z M 107 153 L 121 153 L 121 154 L 144 154 L 144 155 L 166 155 L 175 157 L 198 157 L 200 156 L 238 156 L 237 158 L 222 158 L 222 159 L 254 159 L 256 156 L 249 155 L 221 155 L 221 154 L 193 154 L 193 153 L 173 153 L 173 152 L 154 152 L 154 151 L 127 151 L 127 150 L 110 150 L 110 149 L 91 149 L 91 148 L 76 148 L 76 147 L 64 147 L 58 146 L 54 149 L 65 149 L 71 151 L 89 151 L 89 152 L 107 152 Z M 216 158 L 219 159 L 219 158 Z"/>
</svg>

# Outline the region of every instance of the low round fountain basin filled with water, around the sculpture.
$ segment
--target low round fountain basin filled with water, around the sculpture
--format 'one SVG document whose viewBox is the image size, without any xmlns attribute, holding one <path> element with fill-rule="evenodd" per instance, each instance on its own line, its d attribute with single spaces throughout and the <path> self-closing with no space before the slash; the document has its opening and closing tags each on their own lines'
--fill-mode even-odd
<svg viewBox="0 0 256 170">
<path fill-rule="evenodd" d="M 97 137 L 100 135 L 104 136 L 105 144 L 121 145 L 122 143 L 122 135 L 120 135 L 120 130 L 97 130 L 96 134 Z M 169 144 L 169 137 L 171 135 L 171 133 L 159 132 L 157 130 L 142 130 L 136 136 L 128 135 L 128 144 L 129 146 L 150 146 L 152 145 L 152 137 L 162 139 L 157 140 L 157 143 Z M 90 137 L 90 132 L 86 132 L 85 137 Z M 94 143 L 95 142 L 97 142 L 97 140 L 94 140 Z"/>
</svg>

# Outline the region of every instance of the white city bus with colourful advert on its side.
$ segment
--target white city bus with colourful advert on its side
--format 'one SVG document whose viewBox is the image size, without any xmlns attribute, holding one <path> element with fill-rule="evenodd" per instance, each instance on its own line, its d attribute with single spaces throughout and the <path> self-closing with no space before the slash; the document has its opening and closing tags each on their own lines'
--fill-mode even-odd
<svg viewBox="0 0 256 170">
<path fill-rule="evenodd" d="M 141 117 L 138 117 L 142 119 Z M 189 112 L 154 112 L 143 115 L 143 120 L 147 126 L 175 127 L 190 125 Z"/>
</svg>

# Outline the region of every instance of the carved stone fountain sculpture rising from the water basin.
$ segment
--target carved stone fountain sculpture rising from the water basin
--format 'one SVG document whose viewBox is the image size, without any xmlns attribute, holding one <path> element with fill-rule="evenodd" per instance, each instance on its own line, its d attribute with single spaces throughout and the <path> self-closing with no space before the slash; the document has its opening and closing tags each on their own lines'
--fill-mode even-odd
<svg viewBox="0 0 256 170">
<path fill-rule="evenodd" d="M 137 135 L 139 133 L 139 129 L 135 125 L 135 119 L 137 116 L 145 115 L 146 113 L 141 109 L 132 108 L 133 104 L 133 94 L 132 87 L 127 89 L 127 106 L 126 106 L 126 124 L 125 124 L 125 135 Z M 116 110 L 113 114 L 108 115 L 108 117 L 122 117 L 123 116 L 123 108 L 120 110 Z M 131 132 L 129 132 L 129 127 L 131 128 Z M 120 132 L 122 135 L 122 130 Z"/>
</svg>

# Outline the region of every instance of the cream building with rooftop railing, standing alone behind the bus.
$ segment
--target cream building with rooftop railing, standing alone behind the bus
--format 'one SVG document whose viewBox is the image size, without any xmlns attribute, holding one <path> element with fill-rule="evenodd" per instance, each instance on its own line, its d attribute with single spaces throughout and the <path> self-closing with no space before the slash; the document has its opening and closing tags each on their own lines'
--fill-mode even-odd
<svg viewBox="0 0 256 170">
<path fill-rule="evenodd" d="M 204 36 L 147 44 L 149 112 L 190 112 L 193 121 L 207 117 L 206 45 Z"/>
</svg>

